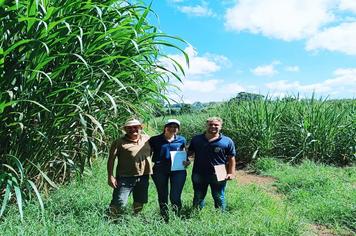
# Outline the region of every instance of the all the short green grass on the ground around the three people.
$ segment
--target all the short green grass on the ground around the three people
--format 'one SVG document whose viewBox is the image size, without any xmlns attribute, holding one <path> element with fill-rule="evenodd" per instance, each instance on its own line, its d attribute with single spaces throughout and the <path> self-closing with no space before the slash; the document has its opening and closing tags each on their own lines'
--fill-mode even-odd
<svg viewBox="0 0 356 236">
<path fill-rule="evenodd" d="M 230 181 L 225 213 L 213 208 L 209 193 L 206 208 L 192 211 L 188 178 L 182 217 L 171 214 L 171 221 L 164 223 L 152 182 L 149 203 L 141 214 L 107 219 L 111 189 L 106 185 L 105 161 L 97 160 L 90 176 L 50 194 L 44 201 L 44 217 L 33 202 L 25 208 L 21 223 L 16 206 L 11 206 L 0 222 L 1 235 L 314 235 L 310 224 L 326 225 L 336 235 L 355 233 L 355 167 L 336 168 L 310 161 L 292 166 L 261 159 L 255 168 L 277 179 L 274 185 L 282 197 L 275 196 L 270 186 Z"/>
</svg>

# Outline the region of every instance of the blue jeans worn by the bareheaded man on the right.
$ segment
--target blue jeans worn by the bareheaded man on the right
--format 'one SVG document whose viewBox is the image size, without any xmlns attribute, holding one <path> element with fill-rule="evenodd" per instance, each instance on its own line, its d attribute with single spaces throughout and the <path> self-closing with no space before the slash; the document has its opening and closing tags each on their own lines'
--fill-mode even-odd
<svg viewBox="0 0 356 236">
<path fill-rule="evenodd" d="M 220 208 L 222 211 L 226 209 L 226 180 L 217 181 L 215 174 L 205 176 L 193 173 L 192 182 L 194 189 L 193 207 L 202 209 L 205 206 L 204 198 L 210 185 L 215 208 Z"/>
</svg>

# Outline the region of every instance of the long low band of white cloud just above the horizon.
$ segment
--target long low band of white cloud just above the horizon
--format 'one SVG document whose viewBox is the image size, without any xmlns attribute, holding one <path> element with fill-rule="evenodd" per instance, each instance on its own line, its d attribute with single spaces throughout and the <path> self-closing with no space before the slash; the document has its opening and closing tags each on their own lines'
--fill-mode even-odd
<svg viewBox="0 0 356 236">
<path fill-rule="evenodd" d="M 172 96 L 176 101 L 193 103 L 196 101 L 227 101 L 239 92 L 247 91 L 261 93 L 270 97 L 284 97 L 299 94 L 301 97 L 310 97 L 313 93 L 317 97 L 345 98 L 356 96 L 356 68 L 336 69 L 331 78 L 320 83 L 303 83 L 301 81 L 279 80 L 264 85 L 240 84 L 228 82 L 221 78 L 212 79 L 185 79 L 179 84 L 181 91 Z"/>
</svg>

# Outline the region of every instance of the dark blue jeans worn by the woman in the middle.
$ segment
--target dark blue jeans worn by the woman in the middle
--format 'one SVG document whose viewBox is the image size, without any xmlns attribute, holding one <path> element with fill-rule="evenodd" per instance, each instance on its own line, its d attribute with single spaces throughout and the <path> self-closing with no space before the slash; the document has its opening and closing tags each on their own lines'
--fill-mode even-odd
<svg viewBox="0 0 356 236">
<path fill-rule="evenodd" d="M 187 178 L 187 171 L 154 171 L 152 178 L 158 193 L 158 203 L 161 215 L 166 216 L 168 213 L 168 182 L 170 184 L 170 202 L 172 203 L 173 210 L 179 212 L 182 208 L 181 195 L 185 179 Z"/>
</svg>

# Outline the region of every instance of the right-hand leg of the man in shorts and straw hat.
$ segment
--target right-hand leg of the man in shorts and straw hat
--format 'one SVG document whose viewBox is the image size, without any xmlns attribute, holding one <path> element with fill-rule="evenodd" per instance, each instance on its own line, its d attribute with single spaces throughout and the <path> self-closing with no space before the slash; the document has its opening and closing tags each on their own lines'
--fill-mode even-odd
<svg viewBox="0 0 356 236">
<path fill-rule="evenodd" d="M 148 202 L 148 185 L 149 176 L 143 175 L 137 177 L 135 187 L 133 188 L 133 204 L 132 208 L 135 214 L 143 209 L 143 205 Z"/>
</svg>

